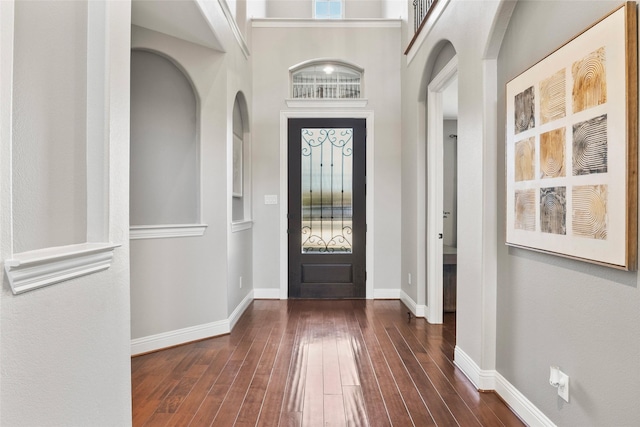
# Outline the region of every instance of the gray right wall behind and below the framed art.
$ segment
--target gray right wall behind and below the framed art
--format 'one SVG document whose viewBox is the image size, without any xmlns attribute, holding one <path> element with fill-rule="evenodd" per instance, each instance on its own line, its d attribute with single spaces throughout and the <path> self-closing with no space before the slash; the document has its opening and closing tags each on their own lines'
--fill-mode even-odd
<svg viewBox="0 0 640 427">
<path fill-rule="evenodd" d="M 498 128 L 506 82 L 611 11 L 608 1 L 518 2 L 500 50 Z M 498 158 L 504 159 L 500 134 Z M 504 207 L 504 162 L 499 162 Z M 504 242 L 504 208 L 498 241 Z M 638 274 L 499 246 L 498 371 L 553 422 L 640 423 Z M 570 403 L 548 384 L 549 366 L 570 377 Z"/>
</svg>

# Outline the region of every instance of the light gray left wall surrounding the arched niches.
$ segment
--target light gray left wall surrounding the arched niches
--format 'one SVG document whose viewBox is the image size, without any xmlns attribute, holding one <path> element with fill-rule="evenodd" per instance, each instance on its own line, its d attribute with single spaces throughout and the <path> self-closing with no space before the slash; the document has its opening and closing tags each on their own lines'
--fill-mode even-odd
<svg viewBox="0 0 640 427">
<path fill-rule="evenodd" d="M 251 74 L 230 31 L 221 31 L 221 37 L 226 53 L 142 27 L 132 28 L 132 47 L 171 58 L 184 70 L 199 98 L 197 179 L 200 221 L 207 224 L 204 236 L 131 242 L 133 339 L 171 336 L 192 327 L 219 330 L 253 289 L 252 231 L 231 232 L 233 105 L 239 92 L 244 99 L 251 99 Z M 247 110 L 251 111 L 250 104 Z M 245 194 L 250 197 L 250 183 L 245 184 Z M 247 204 L 244 207 L 244 217 L 250 219 L 250 208 Z M 176 339 L 180 337 L 178 334 Z"/>
</svg>

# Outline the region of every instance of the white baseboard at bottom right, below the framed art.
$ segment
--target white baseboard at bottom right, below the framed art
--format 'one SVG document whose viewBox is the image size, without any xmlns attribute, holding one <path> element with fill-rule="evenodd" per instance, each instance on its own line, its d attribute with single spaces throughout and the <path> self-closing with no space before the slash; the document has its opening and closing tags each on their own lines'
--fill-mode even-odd
<svg viewBox="0 0 640 427">
<path fill-rule="evenodd" d="M 483 370 L 456 346 L 454 363 L 480 390 L 494 390 L 530 427 L 555 427 L 555 424 L 529 399 L 495 370 Z"/>
</svg>

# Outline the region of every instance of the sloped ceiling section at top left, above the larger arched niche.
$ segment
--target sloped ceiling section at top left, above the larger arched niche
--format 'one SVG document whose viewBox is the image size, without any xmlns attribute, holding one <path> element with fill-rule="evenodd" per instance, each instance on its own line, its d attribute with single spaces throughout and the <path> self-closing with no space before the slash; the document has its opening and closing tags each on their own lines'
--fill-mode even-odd
<svg viewBox="0 0 640 427">
<path fill-rule="evenodd" d="M 222 44 L 195 0 L 133 0 L 134 25 L 222 51 Z"/>
</svg>

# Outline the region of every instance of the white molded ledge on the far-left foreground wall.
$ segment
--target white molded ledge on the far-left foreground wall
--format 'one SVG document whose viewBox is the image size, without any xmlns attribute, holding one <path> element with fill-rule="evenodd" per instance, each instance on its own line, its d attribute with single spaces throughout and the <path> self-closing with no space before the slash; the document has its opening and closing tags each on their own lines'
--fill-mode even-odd
<svg viewBox="0 0 640 427">
<path fill-rule="evenodd" d="M 97 273 L 111 266 L 113 243 L 81 243 L 13 254 L 4 268 L 14 295 Z"/>
</svg>

